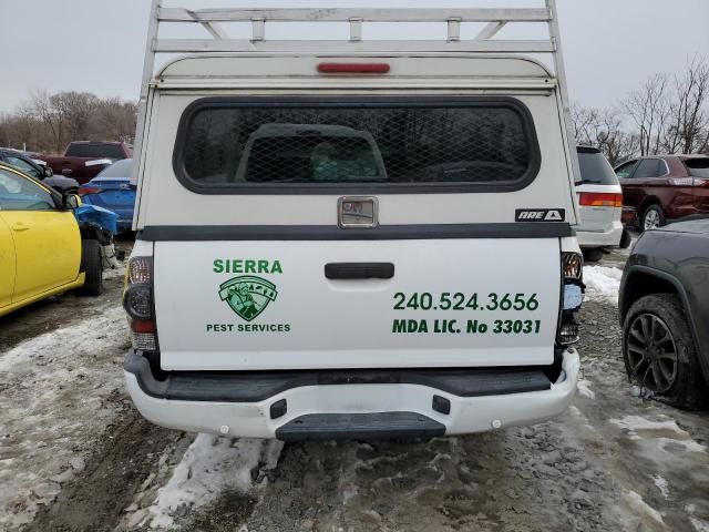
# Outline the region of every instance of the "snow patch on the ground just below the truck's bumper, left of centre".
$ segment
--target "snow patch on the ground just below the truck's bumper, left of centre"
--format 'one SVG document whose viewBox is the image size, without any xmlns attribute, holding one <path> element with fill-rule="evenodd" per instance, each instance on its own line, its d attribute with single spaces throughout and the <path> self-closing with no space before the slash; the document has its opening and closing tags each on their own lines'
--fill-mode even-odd
<svg viewBox="0 0 709 532">
<path fill-rule="evenodd" d="M 227 490 L 249 491 L 251 471 L 260 463 L 275 468 L 281 449 L 277 441 L 197 434 L 148 509 L 150 526 L 172 530 L 179 509 L 203 507 Z"/>
</svg>

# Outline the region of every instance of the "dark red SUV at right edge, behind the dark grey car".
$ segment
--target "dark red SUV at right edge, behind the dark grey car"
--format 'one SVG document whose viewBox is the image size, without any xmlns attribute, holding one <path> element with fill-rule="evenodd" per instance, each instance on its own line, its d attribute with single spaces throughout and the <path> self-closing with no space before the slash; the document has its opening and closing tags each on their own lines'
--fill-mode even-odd
<svg viewBox="0 0 709 532">
<path fill-rule="evenodd" d="M 616 168 L 623 187 L 623 222 L 654 229 L 709 213 L 709 157 L 651 155 Z"/>
</svg>

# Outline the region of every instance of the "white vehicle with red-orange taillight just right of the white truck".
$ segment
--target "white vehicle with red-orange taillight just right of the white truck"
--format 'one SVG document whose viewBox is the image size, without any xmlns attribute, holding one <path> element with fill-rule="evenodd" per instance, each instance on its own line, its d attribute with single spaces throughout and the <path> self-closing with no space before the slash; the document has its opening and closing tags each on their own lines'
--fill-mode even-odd
<svg viewBox="0 0 709 532">
<path fill-rule="evenodd" d="M 595 147 L 578 146 L 582 180 L 576 183 L 580 226 L 576 229 L 578 245 L 588 262 L 600 260 L 604 249 L 627 247 L 624 238 L 623 191 L 608 160 Z"/>
</svg>

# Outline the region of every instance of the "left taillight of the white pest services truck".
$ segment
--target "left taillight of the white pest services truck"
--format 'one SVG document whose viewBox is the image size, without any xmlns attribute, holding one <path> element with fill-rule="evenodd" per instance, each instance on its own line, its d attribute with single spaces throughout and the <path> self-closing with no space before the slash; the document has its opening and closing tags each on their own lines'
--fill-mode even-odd
<svg viewBox="0 0 709 532">
<path fill-rule="evenodd" d="M 141 351 L 156 351 L 153 257 L 131 257 L 129 260 L 123 308 L 129 315 L 133 348 Z"/>
</svg>

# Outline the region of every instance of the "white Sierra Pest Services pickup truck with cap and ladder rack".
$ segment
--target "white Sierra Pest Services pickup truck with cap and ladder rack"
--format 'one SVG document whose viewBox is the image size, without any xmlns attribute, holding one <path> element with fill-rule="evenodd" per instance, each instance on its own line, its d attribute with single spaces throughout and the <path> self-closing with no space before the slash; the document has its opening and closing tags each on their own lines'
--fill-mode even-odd
<svg viewBox="0 0 709 532">
<path fill-rule="evenodd" d="M 154 0 L 124 295 L 125 379 L 143 416 L 292 441 L 477 432 L 564 411 L 583 258 L 553 8 Z M 350 35 L 268 40 L 271 20 L 347 22 Z M 220 25 L 234 21 L 251 22 L 250 39 Z M 364 41 L 369 21 L 448 34 Z M 549 39 L 494 38 L 521 21 Z M 212 38 L 163 39 L 163 22 Z M 460 37 L 467 22 L 475 39 Z M 154 72 L 160 52 L 191 54 Z M 554 73 L 512 52 L 549 53 Z"/>
</svg>

